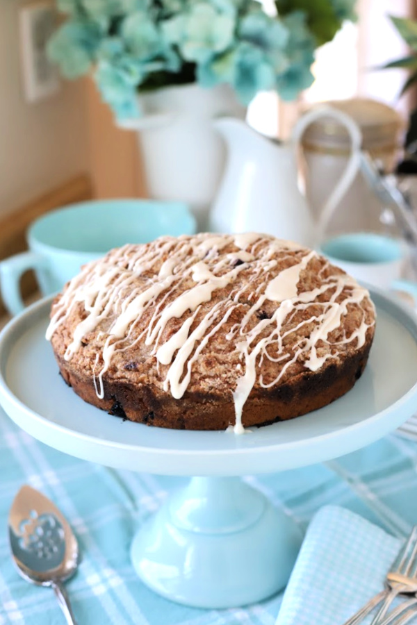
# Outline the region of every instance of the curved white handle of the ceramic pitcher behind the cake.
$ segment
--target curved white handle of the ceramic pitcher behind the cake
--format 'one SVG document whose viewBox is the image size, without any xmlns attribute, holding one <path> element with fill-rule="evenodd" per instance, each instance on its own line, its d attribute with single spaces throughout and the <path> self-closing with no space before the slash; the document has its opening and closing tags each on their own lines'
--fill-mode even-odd
<svg viewBox="0 0 417 625">
<path fill-rule="evenodd" d="M 320 117 L 334 117 L 338 120 L 338 122 L 341 122 L 341 124 L 345 126 L 350 137 L 350 157 L 341 178 L 338 180 L 334 190 L 329 195 L 325 205 L 322 207 L 322 210 L 320 210 L 316 228 L 316 245 L 320 244 L 322 241 L 329 221 L 334 215 L 334 210 L 347 192 L 347 189 L 350 187 L 354 181 L 354 177 L 359 171 L 359 167 L 361 165 L 362 145 L 362 133 L 357 123 L 354 122 L 354 119 L 337 108 L 324 105 L 309 111 L 309 113 L 305 113 L 301 119 L 299 119 L 297 124 L 295 124 L 293 129 L 293 144 L 296 150 L 300 147 L 302 135 L 304 135 L 306 128 L 308 128 L 308 126 L 313 122 L 316 122 L 316 119 L 320 119 Z"/>
</svg>

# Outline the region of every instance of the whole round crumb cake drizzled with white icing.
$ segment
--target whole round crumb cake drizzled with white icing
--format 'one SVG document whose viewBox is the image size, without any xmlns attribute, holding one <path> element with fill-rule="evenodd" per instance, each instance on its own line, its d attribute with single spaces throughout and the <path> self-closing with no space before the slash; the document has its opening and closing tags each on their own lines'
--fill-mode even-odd
<svg viewBox="0 0 417 625">
<path fill-rule="evenodd" d="M 202 233 L 85 265 L 54 299 L 47 338 L 65 382 L 98 408 L 240 433 L 341 397 L 374 329 L 368 291 L 315 251 Z"/>
</svg>

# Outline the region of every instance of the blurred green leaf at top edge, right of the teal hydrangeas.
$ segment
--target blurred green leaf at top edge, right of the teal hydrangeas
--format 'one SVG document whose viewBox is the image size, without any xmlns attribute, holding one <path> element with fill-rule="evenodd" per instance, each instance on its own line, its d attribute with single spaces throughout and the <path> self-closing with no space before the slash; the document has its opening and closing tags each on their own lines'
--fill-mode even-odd
<svg viewBox="0 0 417 625">
<path fill-rule="evenodd" d="M 329 0 L 276 0 L 279 15 L 301 10 L 319 46 L 331 41 L 341 27 L 341 22 Z"/>
</svg>

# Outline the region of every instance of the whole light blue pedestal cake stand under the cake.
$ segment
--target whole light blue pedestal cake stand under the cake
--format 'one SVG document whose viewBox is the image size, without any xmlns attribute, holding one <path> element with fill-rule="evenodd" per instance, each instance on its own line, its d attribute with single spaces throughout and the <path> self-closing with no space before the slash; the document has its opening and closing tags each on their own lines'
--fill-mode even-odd
<svg viewBox="0 0 417 625">
<path fill-rule="evenodd" d="M 131 558 L 164 597 L 200 608 L 243 606 L 279 591 L 302 535 L 240 476 L 284 471 L 364 447 L 417 409 L 417 317 L 373 291 L 377 331 L 354 389 L 309 415 L 236 436 L 122 422 L 84 403 L 58 376 L 44 340 L 51 299 L 0 335 L 0 401 L 38 440 L 119 469 L 193 476 L 138 529 Z"/>
</svg>

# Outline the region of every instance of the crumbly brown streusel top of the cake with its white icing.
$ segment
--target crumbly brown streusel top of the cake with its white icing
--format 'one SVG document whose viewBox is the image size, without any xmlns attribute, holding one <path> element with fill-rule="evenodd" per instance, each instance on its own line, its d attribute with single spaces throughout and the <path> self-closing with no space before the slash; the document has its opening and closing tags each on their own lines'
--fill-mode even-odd
<svg viewBox="0 0 417 625">
<path fill-rule="evenodd" d="M 95 343 L 98 397 L 117 357 L 140 346 L 142 362 L 131 369 L 176 399 L 195 382 L 225 385 L 236 433 L 254 385 L 317 371 L 349 346 L 362 347 L 375 324 L 368 291 L 353 278 L 315 251 L 256 233 L 165 236 L 114 249 L 58 297 L 49 340 L 70 316 L 64 358 L 81 347 L 88 355 Z"/>
</svg>

